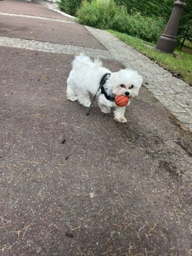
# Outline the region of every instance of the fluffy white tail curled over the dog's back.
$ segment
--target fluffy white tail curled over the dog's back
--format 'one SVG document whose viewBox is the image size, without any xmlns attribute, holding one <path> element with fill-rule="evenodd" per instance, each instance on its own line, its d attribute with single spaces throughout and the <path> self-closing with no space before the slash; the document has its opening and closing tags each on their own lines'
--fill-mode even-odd
<svg viewBox="0 0 192 256">
<path fill-rule="evenodd" d="M 72 62 L 72 66 L 73 69 L 77 70 L 80 70 L 82 66 L 84 66 L 85 68 L 102 67 L 102 61 L 99 58 L 95 58 L 94 61 L 92 61 L 90 57 L 81 54 L 75 57 L 74 61 Z"/>
</svg>

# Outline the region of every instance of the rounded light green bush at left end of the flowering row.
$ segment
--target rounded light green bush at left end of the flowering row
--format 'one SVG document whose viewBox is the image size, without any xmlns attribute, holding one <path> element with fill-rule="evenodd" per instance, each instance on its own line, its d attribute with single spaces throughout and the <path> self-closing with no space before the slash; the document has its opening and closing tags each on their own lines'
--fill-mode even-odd
<svg viewBox="0 0 192 256">
<path fill-rule="evenodd" d="M 91 3 L 84 0 L 77 10 L 77 17 L 81 24 L 108 29 L 111 28 L 118 9 L 113 0 L 93 0 Z"/>
</svg>

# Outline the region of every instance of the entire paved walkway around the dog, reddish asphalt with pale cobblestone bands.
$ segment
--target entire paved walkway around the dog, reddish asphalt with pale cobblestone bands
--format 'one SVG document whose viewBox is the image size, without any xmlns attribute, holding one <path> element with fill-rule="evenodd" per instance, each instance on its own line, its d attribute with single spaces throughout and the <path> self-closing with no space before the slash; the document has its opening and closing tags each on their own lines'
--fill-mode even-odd
<svg viewBox="0 0 192 256">
<path fill-rule="evenodd" d="M 190 256 L 191 87 L 108 32 L 1 2 L 0 253 Z M 143 76 L 128 123 L 67 100 L 82 52 Z"/>
</svg>

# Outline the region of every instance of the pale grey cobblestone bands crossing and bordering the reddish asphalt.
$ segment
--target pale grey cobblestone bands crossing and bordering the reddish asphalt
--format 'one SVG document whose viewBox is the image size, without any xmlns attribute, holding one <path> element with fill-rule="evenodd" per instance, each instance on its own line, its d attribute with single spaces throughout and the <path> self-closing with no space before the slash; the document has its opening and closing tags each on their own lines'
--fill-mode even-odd
<svg viewBox="0 0 192 256">
<path fill-rule="evenodd" d="M 0 12 L 0 15 L 73 23 L 73 21 L 70 20 L 52 19 L 49 17 L 35 17 L 2 12 Z M 192 131 L 192 87 L 190 87 L 189 84 L 173 77 L 166 70 L 163 70 L 163 68 L 159 67 L 147 57 L 127 46 L 122 41 L 119 41 L 119 39 L 115 38 L 107 31 L 94 29 L 89 26 L 85 27 L 106 50 L 2 36 L 0 37 L 0 45 L 74 55 L 83 52 L 92 57 L 100 56 L 100 58 L 117 60 L 127 68 L 138 70 L 143 76 L 143 85 L 150 90 L 154 94 L 154 97 L 169 109 L 186 128 Z"/>
</svg>

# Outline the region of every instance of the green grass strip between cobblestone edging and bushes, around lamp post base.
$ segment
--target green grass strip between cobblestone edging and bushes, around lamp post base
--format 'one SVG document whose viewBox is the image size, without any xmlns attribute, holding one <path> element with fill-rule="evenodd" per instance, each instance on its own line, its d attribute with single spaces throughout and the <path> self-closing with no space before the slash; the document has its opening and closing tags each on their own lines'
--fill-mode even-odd
<svg viewBox="0 0 192 256">
<path fill-rule="evenodd" d="M 181 75 L 182 79 L 189 84 L 192 84 L 192 49 L 183 47 L 182 50 L 175 49 L 177 55 L 157 52 L 149 47 L 154 44 L 145 42 L 140 38 L 134 38 L 113 30 L 108 30 L 112 35 L 119 38 L 125 44 L 133 47 L 151 60 L 157 62 L 161 67 L 167 70 L 172 70 Z"/>
</svg>

